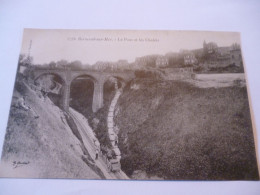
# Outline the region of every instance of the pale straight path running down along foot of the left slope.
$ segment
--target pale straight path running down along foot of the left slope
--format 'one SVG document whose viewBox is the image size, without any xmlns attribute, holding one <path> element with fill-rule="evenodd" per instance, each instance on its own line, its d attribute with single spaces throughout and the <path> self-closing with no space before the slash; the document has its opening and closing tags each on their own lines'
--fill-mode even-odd
<svg viewBox="0 0 260 195">
<path fill-rule="evenodd" d="M 69 112 L 74 122 L 76 123 L 78 130 L 80 131 L 85 147 L 87 148 L 91 158 L 94 160 L 96 155 L 95 154 L 96 147 L 93 142 L 93 139 L 94 138 L 96 139 L 96 137 L 91 127 L 88 125 L 87 119 L 72 108 L 69 109 Z M 96 165 L 100 168 L 100 170 L 103 172 L 106 179 L 129 179 L 123 171 L 117 173 L 108 172 L 105 159 L 101 155 L 99 156 L 98 160 L 94 160 L 94 161 Z"/>
</svg>

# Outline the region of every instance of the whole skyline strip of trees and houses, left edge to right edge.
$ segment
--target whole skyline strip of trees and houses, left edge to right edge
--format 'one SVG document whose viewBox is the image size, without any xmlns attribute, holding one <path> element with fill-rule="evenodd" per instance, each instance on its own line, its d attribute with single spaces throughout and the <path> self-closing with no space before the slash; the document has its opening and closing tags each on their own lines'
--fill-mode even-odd
<svg viewBox="0 0 260 195">
<path fill-rule="evenodd" d="M 21 55 L 20 72 L 23 72 L 31 63 L 32 59 Z M 64 59 L 51 61 L 45 64 L 33 64 L 37 68 L 54 69 L 91 69 L 101 71 L 121 70 L 150 70 L 163 73 L 180 73 L 183 71 L 194 73 L 243 73 L 243 60 L 240 45 L 234 43 L 230 46 L 220 47 L 215 42 L 206 42 L 202 48 L 193 50 L 180 50 L 179 52 L 168 52 L 165 55 L 153 54 L 136 57 L 130 63 L 125 59 L 116 62 L 97 61 L 94 64 L 83 64 L 76 60 L 68 62 Z"/>
</svg>

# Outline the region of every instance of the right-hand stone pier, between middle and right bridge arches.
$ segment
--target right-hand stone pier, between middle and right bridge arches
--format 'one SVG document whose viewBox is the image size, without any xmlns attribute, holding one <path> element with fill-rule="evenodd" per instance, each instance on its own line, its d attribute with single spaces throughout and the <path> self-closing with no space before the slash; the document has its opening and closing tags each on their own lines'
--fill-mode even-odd
<svg viewBox="0 0 260 195">
<path fill-rule="evenodd" d="M 103 89 L 104 82 L 95 82 L 94 83 L 94 94 L 93 94 L 93 103 L 92 103 L 92 111 L 97 112 L 100 108 L 103 107 Z"/>
</svg>

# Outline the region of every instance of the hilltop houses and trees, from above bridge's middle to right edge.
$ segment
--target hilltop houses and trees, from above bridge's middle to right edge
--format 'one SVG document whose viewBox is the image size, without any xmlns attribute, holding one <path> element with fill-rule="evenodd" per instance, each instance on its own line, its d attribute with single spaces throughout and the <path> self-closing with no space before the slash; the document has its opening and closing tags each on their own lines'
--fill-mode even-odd
<svg viewBox="0 0 260 195">
<path fill-rule="evenodd" d="M 165 55 L 146 55 L 137 57 L 133 63 L 126 60 L 117 62 L 98 61 L 93 65 L 94 69 L 172 69 L 191 67 L 197 73 L 230 72 L 242 73 L 243 62 L 240 45 L 219 47 L 215 42 L 203 42 L 203 47 L 194 50 L 180 50 L 169 52 Z"/>
</svg>

